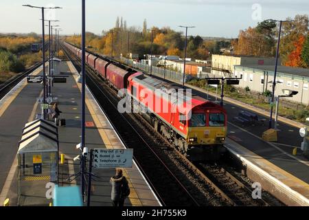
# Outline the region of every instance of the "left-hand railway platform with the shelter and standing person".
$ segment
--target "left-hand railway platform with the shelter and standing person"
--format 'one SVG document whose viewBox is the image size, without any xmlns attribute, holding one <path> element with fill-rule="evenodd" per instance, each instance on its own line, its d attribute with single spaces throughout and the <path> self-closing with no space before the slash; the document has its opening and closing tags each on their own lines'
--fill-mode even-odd
<svg viewBox="0 0 309 220">
<path fill-rule="evenodd" d="M 79 184 L 77 181 L 68 181 L 67 177 L 79 172 L 79 162 L 73 157 L 79 154 L 76 144 L 80 142 L 80 97 L 81 85 L 76 83 L 78 74 L 69 62 L 60 65 L 61 75 L 67 76 L 67 83 L 55 83 L 52 95 L 58 97 L 58 107 L 62 113 L 60 118 L 66 120 L 66 126 L 58 126 L 59 154 L 65 155 L 65 163 L 59 165 L 59 185 L 70 186 Z M 32 75 L 41 75 L 42 68 Z M 22 129 L 25 123 L 31 122 L 41 113 L 36 98 L 43 95 L 42 85 L 27 83 L 24 79 L 0 100 L 0 203 L 6 198 L 10 205 L 17 205 L 18 164 L 16 153 L 21 140 Z M 86 93 L 86 145 L 91 148 L 125 148 L 121 139 L 108 122 L 98 102 Z M 130 196 L 125 206 L 161 206 L 155 192 L 148 184 L 146 177 L 141 173 L 137 164 L 133 168 L 124 168 L 130 186 Z M 91 206 L 111 206 L 111 184 L 109 179 L 115 175 L 114 168 L 94 169 L 93 173 L 100 179 L 93 180 L 91 188 Z M 46 188 L 43 179 L 31 179 L 36 188 L 33 192 L 40 192 L 40 196 L 26 195 L 20 206 L 49 206 L 52 202 L 44 197 Z M 39 181 L 39 183 L 37 182 Z M 41 181 L 41 182 L 40 182 Z M 39 186 L 39 187 L 38 187 Z"/>
</svg>

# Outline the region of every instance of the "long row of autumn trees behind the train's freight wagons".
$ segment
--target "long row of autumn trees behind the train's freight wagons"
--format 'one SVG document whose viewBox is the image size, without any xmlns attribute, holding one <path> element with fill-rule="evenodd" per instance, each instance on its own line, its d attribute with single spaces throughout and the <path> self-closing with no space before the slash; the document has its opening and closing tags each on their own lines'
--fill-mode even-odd
<svg viewBox="0 0 309 220">
<path fill-rule="evenodd" d="M 96 36 L 95 34 L 87 32 L 86 42 L 87 46 L 91 46 L 91 50 L 111 55 L 112 48 L 112 36 L 113 36 L 113 55 L 127 56 L 128 53 L 139 54 L 152 54 L 155 55 L 176 55 L 183 56 L 185 49 L 185 37 L 183 32 L 176 32 L 169 27 L 157 28 L 151 27 L 153 45 L 151 47 L 151 32 L 147 29 L 146 19 L 142 25 L 142 28 L 127 27 L 126 21 L 121 17 L 117 17 L 115 28 L 102 31 L 102 36 Z M 112 34 L 113 33 L 113 34 Z M 130 34 L 130 41 L 128 42 L 128 34 Z M 74 35 L 67 37 L 67 41 L 80 45 L 80 35 Z M 209 51 L 212 50 L 212 45 L 219 48 L 223 44 L 207 43 L 201 36 L 190 36 L 187 41 L 187 55 L 191 58 L 207 59 L 209 58 Z M 211 48 L 208 47 L 211 45 Z M 128 51 L 129 48 L 129 51 Z"/>
</svg>

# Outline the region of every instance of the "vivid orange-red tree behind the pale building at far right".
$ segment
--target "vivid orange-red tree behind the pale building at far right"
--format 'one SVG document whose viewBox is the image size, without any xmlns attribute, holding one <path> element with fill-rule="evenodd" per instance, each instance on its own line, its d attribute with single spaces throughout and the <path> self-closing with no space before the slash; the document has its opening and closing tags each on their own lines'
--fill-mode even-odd
<svg viewBox="0 0 309 220">
<path fill-rule="evenodd" d="M 289 67 L 306 67 L 306 63 L 301 57 L 303 52 L 304 43 L 306 41 L 305 36 L 299 36 L 299 39 L 294 42 L 295 49 L 288 55 L 288 60 L 285 65 Z"/>
</svg>

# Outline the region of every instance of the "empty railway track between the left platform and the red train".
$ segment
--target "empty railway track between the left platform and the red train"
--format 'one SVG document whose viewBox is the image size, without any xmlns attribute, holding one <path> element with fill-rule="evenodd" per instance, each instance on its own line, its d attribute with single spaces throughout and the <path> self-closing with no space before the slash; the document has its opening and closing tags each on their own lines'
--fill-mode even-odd
<svg viewBox="0 0 309 220">
<path fill-rule="evenodd" d="M 67 50 L 65 50 L 65 53 L 76 69 L 80 71 L 80 62 L 76 58 L 71 58 L 73 55 Z M 87 67 L 87 72 L 89 71 L 90 69 Z M 173 174 L 172 170 L 165 165 L 155 151 L 152 151 L 148 141 L 135 130 L 132 124 L 122 114 L 118 113 L 117 107 L 115 107 L 113 102 L 111 102 L 102 90 L 102 87 L 97 84 L 97 81 L 90 74 L 87 74 L 87 86 L 97 99 L 101 108 L 104 107 L 102 110 L 108 116 L 108 120 L 112 122 L 115 131 L 122 138 L 126 147 L 135 150 L 135 162 L 143 170 L 146 179 L 148 179 L 152 188 L 159 195 L 161 203 L 164 206 L 199 206 L 199 203 Z M 153 170 L 156 171 L 153 172 Z M 157 173 L 157 175 L 147 175 L 146 173 Z"/>
</svg>

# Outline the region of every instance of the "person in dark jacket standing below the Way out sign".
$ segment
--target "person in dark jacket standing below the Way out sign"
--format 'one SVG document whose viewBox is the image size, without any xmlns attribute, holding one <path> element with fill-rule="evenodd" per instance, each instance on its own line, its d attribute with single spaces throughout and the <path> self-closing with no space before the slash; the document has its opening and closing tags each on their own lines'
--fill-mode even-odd
<svg viewBox="0 0 309 220">
<path fill-rule="evenodd" d="M 113 206 L 123 207 L 126 197 L 122 194 L 122 187 L 124 184 L 128 184 L 128 180 L 126 180 L 126 177 L 122 175 L 122 169 L 117 168 L 116 175 L 111 177 L 109 182 L 112 185 L 111 200 L 113 202 Z"/>
</svg>

